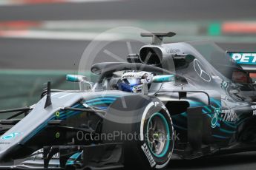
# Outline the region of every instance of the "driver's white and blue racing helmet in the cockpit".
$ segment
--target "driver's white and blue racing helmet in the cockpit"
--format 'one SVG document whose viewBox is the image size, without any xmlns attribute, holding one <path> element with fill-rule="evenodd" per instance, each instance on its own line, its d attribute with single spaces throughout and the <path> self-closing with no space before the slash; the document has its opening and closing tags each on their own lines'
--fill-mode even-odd
<svg viewBox="0 0 256 170">
<path fill-rule="evenodd" d="M 152 72 L 125 71 L 118 89 L 124 92 L 142 92 L 143 84 L 150 84 L 154 74 Z"/>
</svg>

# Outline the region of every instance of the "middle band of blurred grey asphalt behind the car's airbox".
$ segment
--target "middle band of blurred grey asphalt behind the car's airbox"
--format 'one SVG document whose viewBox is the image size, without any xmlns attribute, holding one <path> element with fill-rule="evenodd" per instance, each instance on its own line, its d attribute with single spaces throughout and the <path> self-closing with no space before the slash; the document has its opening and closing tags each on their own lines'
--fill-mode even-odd
<svg viewBox="0 0 256 170">
<path fill-rule="evenodd" d="M 77 70 L 82 54 L 89 43 L 90 41 L 0 38 L 0 68 Z M 229 51 L 255 50 L 255 44 L 218 45 L 223 50 Z M 132 52 L 138 52 L 141 46 L 140 42 L 131 42 Z M 103 52 L 104 50 L 117 55 L 121 60 L 125 60 L 129 53 L 126 42 L 114 41 L 99 50 L 96 58 L 88 58 L 88 60 L 92 64 L 102 61 L 118 61 Z"/>
</svg>

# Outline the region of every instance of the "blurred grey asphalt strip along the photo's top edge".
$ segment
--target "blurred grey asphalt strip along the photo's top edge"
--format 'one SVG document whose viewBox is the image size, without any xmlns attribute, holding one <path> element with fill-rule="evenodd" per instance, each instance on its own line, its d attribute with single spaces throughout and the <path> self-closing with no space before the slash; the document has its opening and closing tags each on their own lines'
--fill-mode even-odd
<svg viewBox="0 0 256 170">
<path fill-rule="evenodd" d="M 119 0 L 83 4 L 41 4 L 33 7 L 0 7 L 0 20 L 254 19 L 255 6 L 254 0 Z"/>
</svg>

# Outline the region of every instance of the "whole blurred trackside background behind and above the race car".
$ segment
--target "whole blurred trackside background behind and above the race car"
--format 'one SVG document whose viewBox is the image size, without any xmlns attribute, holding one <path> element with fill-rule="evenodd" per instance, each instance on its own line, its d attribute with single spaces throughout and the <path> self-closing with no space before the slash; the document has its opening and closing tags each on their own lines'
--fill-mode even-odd
<svg viewBox="0 0 256 170">
<path fill-rule="evenodd" d="M 111 28 L 173 31 L 165 41 L 211 40 L 224 50 L 255 51 L 255 7 L 255 0 L 0 0 L 0 108 L 32 105 L 47 81 L 54 89 L 76 88 L 65 74 L 77 73 L 91 40 Z M 116 31 L 98 41 L 122 36 Z M 134 52 L 150 42 L 125 36 L 134 39 Z M 111 42 L 108 52 L 128 55 L 122 41 Z M 113 60 L 105 53 L 95 62 Z"/>
</svg>

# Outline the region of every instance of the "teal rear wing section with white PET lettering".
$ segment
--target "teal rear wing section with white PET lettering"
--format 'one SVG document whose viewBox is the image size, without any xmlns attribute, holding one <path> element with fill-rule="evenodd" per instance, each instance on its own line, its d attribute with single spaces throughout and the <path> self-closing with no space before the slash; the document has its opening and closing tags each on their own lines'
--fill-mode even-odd
<svg viewBox="0 0 256 170">
<path fill-rule="evenodd" d="M 256 72 L 256 52 L 227 52 L 246 72 Z"/>
</svg>

